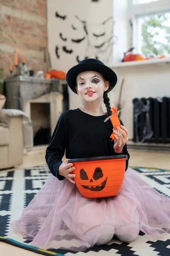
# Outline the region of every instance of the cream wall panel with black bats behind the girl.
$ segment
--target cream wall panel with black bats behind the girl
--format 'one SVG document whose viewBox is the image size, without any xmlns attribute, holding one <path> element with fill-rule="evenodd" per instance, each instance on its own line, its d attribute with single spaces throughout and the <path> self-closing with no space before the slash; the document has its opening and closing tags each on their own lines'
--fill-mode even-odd
<svg viewBox="0 0 170 256">
<path fill-rule="evenodd" d="M 59 15 L 66 15 L 65 20 L 56 17 L 56 12 Z M 75 17 L 78 16 L 81 20 L 87 21 L 88 36 L 83 29 L 82 23 Z M 111 64 L 113 58 L 113 47 L 110 43 L 99 49 L 94 46 L 99 46 L 104 41 L 112 37 L 113 19 L 108 20 L 104 25 L 101 23 L 113 17 L 113 0 L 47 0 L 47 16 L 48 16 L 48 51 L 51 56 L 52 68 L 68 71 L 69 68 L 78 64 L 76 58 L 79 56 L 81 61 L 86 56 L 88 58 L 97 57 L 105 64 Z M 71 25 L 77 29 L 74 30 Z M 96 38 L 93 33 L 99 35 L 105 32 L 104 36 Z M 63 38 L 67 41 L 62 41 L 59 36 L 62 33 Z M 80 39 L 85 37 L 85 40 L 77 44 L 71 39 Z M 59 58 L 55 53 L 56 46 L 59 48 Z M 65 46 L 72 50 L 71 54 L 62 50 Z M 99 52 L 102 50 L 102 52 Z M 69 90 L 70 109 L 77 108 L 81 105 L 79 96 Z M 110 93 L 111 101 L 113 102 L 113 93 Z"/>
</svg>

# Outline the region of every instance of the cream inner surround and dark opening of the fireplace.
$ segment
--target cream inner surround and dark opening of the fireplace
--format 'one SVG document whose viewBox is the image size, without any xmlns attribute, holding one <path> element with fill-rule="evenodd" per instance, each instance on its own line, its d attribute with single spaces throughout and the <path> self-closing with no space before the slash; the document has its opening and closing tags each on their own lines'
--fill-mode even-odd
<svg viewBox="0 0 170 256">
<path fill-rule="evenodd" d="M 59 92 L 51 92 L 26 102 L 24 112 L 33 124 L 34 146 L 48 145 L 62 111 L 63 95 Z"/>
</svg>

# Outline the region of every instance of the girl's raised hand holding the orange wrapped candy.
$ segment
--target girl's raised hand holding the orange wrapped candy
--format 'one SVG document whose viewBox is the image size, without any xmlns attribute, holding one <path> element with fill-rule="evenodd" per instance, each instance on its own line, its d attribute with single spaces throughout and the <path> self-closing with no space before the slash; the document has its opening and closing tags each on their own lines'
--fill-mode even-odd
<svg viewBox="0 0 170 256">
<path fill-rule="evenodd" d="M 129 133 L 123 125 L 121 125 L 121 127 L 117 126 L 117 129 L 120 131 L 120 133 L 119 131 L 113 129 L 114 136 L 116 138 L 116 140 L 114 140 L 114 151 L 121 154 L 123 153 L 123 147 L 129 140 Z"/>
</svg>

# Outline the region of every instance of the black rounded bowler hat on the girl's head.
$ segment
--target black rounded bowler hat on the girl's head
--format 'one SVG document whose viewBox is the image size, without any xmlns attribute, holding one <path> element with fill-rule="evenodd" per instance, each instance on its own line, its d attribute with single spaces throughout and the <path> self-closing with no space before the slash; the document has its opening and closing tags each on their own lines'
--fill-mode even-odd
<svg viewBox="0 0 170 256">
<path fill-rule="evenodd" d="M 66 75 L 67 84 L 74 93 L 77 93 L 76 91 L 77 75 L 85 71 L 96 71 L 102 74 L 105 80 L 110 82 L 110 87 L 107 90 L 107 92 L 110 92 L 117 83 L 116 73 L 114 73 L 114 71 L 110 67 L 105 66 L 105 64 L 102 61 L 99 61 L 94 58 L 88 58 L 83 61 L 80 61 L 79 64 L 77 64 L 74 67 L 71 67 L 71 69 L 68 70 L 67 72 L 67 75 Z"/>
</svg>

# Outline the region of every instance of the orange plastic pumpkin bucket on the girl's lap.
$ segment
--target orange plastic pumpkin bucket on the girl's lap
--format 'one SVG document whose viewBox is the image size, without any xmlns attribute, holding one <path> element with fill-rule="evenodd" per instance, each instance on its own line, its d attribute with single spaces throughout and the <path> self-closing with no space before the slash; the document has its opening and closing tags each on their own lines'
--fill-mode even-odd
<svg viewBox="0 0 170 256">
<path fill-rule="evenodd" d="M 85 198 L 118 195 L 125 176 L 127 155 L 71 159 L 76 170 L 74 181 Z"/>
</svg>

